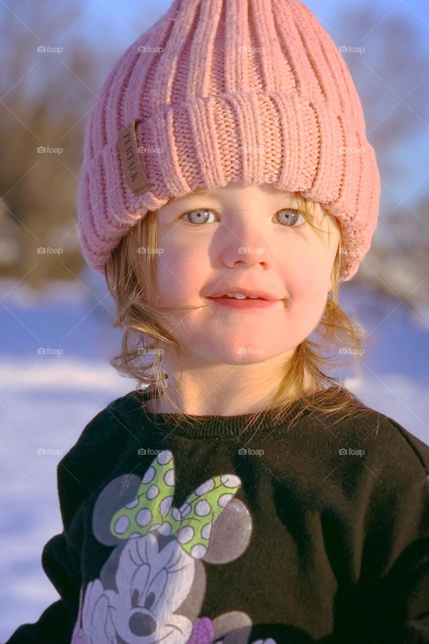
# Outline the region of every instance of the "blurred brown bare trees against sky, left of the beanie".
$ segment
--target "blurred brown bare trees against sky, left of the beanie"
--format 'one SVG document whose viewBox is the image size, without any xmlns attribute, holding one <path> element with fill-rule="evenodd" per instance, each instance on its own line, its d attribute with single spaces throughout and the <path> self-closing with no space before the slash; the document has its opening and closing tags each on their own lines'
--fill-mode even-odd
<svg viewBox="0 0 429 644">
<path fill-rule="evenodd" d="M 24 277 L 35 289 L 48 278 L 72 278 L 84 263 L 76 191 L 83 128 L 106 64 L 99 53 L 102 38 L 96 44 L 75 27 L 84 14 L 79 1 L 20 0 L 14 12 L 0 8 L 7 60 L 0 77 L 2 218 L 17 224 L 19 245 L 0 270 Z M 118 53 L 106 50 L 107 58 Z"/>
</svg>

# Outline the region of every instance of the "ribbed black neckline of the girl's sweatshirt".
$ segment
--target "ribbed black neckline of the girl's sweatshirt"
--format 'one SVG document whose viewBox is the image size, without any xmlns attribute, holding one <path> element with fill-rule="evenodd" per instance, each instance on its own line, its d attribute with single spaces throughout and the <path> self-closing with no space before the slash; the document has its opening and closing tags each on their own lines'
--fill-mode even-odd
<svg viewBox="0 0 429 644">
<path fill-rule="evenodd" d="M 329 389 L 338 388 L 334 385 Z M 317 399 L 321 393 L 309 394 L 302 399 L 293 401 L 291 405 L 283 413 L 280 422 L 275 422 L 274 412 L 272 410 L 264 410 L 259 417 L 255 419 L 254 412 L 242 413 L 232 416 L 222 415 L 195 415 L 185 414 L 184 419 L 179 419 L 178 413 L 153 413 L 149 412 L 144 405 L 149 401 L 147 390 L 135 390 L 135 395 L 140 402 L 140 408 L 146 417 L 146 420 L 160 433 L 172 433 L 173 435 L 184 436 L 188 438 L 216 438 L 239 436 L 245 433 L 253 433 L 253 431 L 273 429 L 278 425 L 284 426 L 287 422 L 291 421 L 300 410 L 305 406 L 305 402 L 309 399 L 313 401 Z M 303 415 L 310 413 L 310 410 L 305 409 Z M 195 424 L 197 421 L 198 424 Z"/>
</svg>

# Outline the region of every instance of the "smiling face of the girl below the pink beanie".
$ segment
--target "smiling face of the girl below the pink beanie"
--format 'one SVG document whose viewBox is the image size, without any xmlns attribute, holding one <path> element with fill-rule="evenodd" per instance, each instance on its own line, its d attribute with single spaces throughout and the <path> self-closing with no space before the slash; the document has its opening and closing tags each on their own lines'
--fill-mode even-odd
<svg viewBox="0 0 429 644">
<path fill-rule="evenodd" d="M 335 220 L 316 204 L 313 231 L 298 201 L 271 184 L 232 183 L 173 200 L 157 211 L 157 292 L 175 312 L 173 336 L 187 364 L 254 365 L 294 348 L 316 327 L 332 289 Z M 210 294 L 262 290 L 263 308 L 224 306 Z"/>
</svg>

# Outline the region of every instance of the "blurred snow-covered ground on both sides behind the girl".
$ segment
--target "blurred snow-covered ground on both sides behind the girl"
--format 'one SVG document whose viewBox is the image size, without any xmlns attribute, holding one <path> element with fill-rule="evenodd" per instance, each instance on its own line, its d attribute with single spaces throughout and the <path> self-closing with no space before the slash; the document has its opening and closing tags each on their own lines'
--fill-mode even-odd
<svg viewBox="0 0 429 644">
<path fill-rule="evenodd" d="M 102 276 L 86 284 L 104 298 Z M 120 332 L 108 325 L 110 297 L 99 304 L 79 283 L 52 283 L 34 298 L 0 281 L 1 499 L 0 642 L 36 621 L 58 594 L 41 567 L 44 544 L 61 532 L 56 468 L 84 426 L 110 401 L 135 388 L 109 365 Z M 368 406 L 429 443 L 429 320 L 394 297 L 353 283 L 340 302 L 371 332 L 362 378 L 344 384 Z M 95 307 L 95 308 L 94 308 Z M 38 349 L 45 352 L 37 352 Z M 62 353 L 59 352 L 62 351 Z"/>
</svg>

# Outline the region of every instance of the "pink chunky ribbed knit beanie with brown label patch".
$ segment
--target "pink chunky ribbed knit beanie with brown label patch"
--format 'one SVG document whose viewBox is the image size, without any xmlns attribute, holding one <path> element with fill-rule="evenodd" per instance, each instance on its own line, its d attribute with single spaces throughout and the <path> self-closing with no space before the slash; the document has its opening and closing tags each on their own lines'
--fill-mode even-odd
<svg viewBox="0 0 429 644">
<path fill-rule="evenodd" d="M 380 180 L 338 47 L 298 0 L 174 0 L 122 55 L 88 121 L 78 195 L 86 261 L 104 271 L 148 211 L 203 187 L 273 184 L 320 202 L 352 278 Z"/>
</svg>

